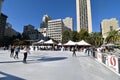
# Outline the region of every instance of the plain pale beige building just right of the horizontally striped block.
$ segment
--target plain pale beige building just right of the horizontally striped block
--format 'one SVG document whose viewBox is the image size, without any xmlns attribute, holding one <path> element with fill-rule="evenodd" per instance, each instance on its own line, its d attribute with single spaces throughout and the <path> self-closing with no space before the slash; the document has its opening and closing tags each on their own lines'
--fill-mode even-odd
<svg viewBox="0 0 120 80">
<path fill-rule="evenodd" d="M 64 24 L 64 27 L 68 31 L 73 31 L 73 19 L 72 18 L 66 17 L 65 19 L 63 19 L 63 24 Z"/>
</svg>

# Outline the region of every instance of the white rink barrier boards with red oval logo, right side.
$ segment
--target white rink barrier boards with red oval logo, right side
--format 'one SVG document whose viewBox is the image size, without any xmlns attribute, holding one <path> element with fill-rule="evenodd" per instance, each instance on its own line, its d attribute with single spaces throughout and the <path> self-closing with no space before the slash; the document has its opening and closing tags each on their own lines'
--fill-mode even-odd
<svg viewBox="0 0 120 80">
<path fill-rule="evenodd" d="M 114 72 L 120 75 L 120 57 L 116 55 L 111 55 L 107 53 L 97 52 L 97 61 L 106 65 L 108 68 L 112 69 Z"/>
</svg>

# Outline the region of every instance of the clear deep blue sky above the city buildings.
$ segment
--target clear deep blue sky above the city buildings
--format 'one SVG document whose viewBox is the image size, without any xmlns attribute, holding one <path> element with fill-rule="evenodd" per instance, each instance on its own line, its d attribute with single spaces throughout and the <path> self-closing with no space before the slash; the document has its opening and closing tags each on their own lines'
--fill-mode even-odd
<svg viewBox="0 0 120 80">
<path fill-rule="evenodd" d="M 36 29 L 42 22 L 42 17 L 48 14 L 52 19 L 72 17 L 76 29 L 76 0 L 5 0 L 2 12 L 8 16 L 18 32 L 23 27 L 32 24 Z M 103 19 L 117 18 L 120 21 L 120 0 L 91 0 L 93 32 L 100 31 Z"/>
</svg>

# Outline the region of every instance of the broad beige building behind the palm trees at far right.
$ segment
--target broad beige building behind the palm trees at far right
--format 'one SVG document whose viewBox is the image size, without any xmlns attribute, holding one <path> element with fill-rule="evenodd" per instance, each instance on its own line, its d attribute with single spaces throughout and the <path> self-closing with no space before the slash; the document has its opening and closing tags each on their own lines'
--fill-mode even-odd
<svg viewBox="0 0 120 80">
<path fill-rule="evenodd" d="M 116 18 L 104 19 L 101 22 L 101 32 L 104 39 L 108 36 L 109 31 L 116 30 L 118 28 L 119 22 Z"/>
</svg>

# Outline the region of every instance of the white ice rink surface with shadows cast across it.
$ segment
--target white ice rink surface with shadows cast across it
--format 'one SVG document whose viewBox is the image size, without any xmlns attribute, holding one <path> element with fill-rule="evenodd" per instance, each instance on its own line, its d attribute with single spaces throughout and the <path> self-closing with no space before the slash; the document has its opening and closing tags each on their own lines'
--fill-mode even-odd
<svg viewBox="0 0 120 80">
<path fill-rule="evenodd" d="M 120 80 L 120 76 L 83 52 L 32 51 L 27 64 L 0 50 L 0 80 Z"/>
</svg>

